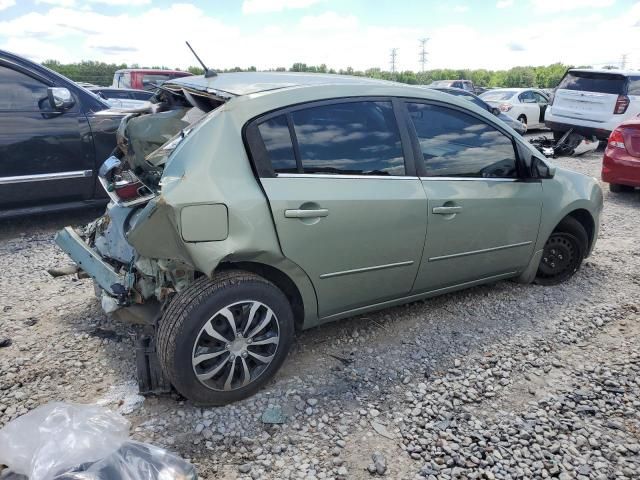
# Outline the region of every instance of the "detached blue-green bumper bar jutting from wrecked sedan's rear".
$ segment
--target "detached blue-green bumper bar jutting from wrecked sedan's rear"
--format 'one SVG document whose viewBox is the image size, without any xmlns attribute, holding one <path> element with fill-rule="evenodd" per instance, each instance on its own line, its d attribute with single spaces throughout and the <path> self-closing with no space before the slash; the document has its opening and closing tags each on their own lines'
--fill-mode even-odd
<svg viewBox="0 0 640 480">
<path fill-rule="evenodd" d="M 71 227 L 64 227 L 55 237 L 58 246 L 93 278 L 108 295 L 122 306 L 127 304 L 128 275 L 122 275 L 93 251 Z"/>
</svg>

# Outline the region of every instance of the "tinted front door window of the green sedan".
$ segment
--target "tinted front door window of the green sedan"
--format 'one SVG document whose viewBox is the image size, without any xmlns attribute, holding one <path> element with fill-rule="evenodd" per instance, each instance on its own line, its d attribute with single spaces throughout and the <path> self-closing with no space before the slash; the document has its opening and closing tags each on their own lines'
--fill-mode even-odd
<svg viewBox="0 0 640 480">
<path fill-rule="evenodd" d="M 517 177 L 513 143 L 493 126 L 447 107 L 407 107 L 428 177 Z"/>
</svg>

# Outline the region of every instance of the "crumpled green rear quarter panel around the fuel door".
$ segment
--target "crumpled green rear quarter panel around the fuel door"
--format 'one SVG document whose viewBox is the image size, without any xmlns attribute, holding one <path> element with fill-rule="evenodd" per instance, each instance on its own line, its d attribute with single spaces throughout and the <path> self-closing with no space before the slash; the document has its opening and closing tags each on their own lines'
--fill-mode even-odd
<svg viewBox="0 0 640 480">
<path fill-rule="evenodd" d="M 313 326 L 318 321 L 315 291 L 306 273 L 282 254 L 267 199 L 242 142 L 244 121 L 229 111 L 232 103 L 212 112 L 213 118 L 195 127 L 178 145 L 165 166 L 160 196 L 132 219 L 127 239 L 143 257 L 175 259 L 209 277 L 222 263 L 274 267 L 298 287 L 305 312 L 303 326 Z M 212 204 L 227 207 L 226 238 L 185 241 L 197 234 L 182 231 L 182 210 Z M 216 218 L 208 221 L 224 221 Z"/>
</svg>

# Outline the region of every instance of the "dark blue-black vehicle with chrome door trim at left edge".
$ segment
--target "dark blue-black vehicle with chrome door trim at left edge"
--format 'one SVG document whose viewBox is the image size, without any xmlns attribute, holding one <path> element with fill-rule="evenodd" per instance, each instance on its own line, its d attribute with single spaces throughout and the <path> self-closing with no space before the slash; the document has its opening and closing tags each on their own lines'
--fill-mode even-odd
<svg viewBox="0 0 640 480">
<path fill-rule="evenodd" d="M 105 204 L 98 168 L 123 116 L 68 78 L 0 51 L 0 218 Z"/>
</svg>

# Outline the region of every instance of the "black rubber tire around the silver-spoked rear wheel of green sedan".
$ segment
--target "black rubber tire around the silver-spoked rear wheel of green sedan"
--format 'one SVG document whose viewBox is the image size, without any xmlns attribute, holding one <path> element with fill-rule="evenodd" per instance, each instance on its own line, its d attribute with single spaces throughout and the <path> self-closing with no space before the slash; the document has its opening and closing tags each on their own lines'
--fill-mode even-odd
<svg viewBox="0 0 640 480">
<path fill-rule="evenodd" d="M 220 356 L 220 360 L 217 357 L 211 360 L 211 362 L 219 362 L 218 364 L 226 364 L 221 370 L 221 375 L 225 377 L 227 376 L 226 372 L 233 370 L 233 372 L 229 373 L 229 376 L 235 378 L 237 374 L 239 378 L 246 379 L 243 375 L 243 366 L 253 362 L 258 365 L 256 369 L 259 369 L 260 363 L 265 363 L 256 361 L 252 356 L 246 356 L 246 350 L 250 348 L 248 345 L 244 345 L 244 360 L 240 358 L 240 353 L 238 352 L 236 352 L 237 357 L 231 354 L 232 350 L 235 349 L 231 345 L 236 343 L 237 338 L 242 339 L 241 325 L 236 325 L 239 337 L 235 337 L 233 332 L 224 333 L 225 339 L 233 338 L 233 341 L 227 343 L 225 347 L 215 346 L 218 340 L 215 337 L 204 334 L 205 324 L 213 325 L 214 319 L 220 317 L 220 315 L 216 315 L 217 312 L 219 313 L 226 308 L 236 309 L 235 311 L 239 311 L 238 315 L 243 316 L 245 315 L 243 312 L 247 311 L 246 305 L 244 305 L 247 302 L 262 304 L 267 311 L 270 309 L 273 317 L 275 317 L 279 341 L 273 347 L 275 351 L 265 354 L 272 356 L 272 360 L 247 385 L 235 386 L 231 390 L 221 390 L 209 384 L 205 385 L 204 382 L 219 382 L 220 379 L 214 378 L 205 381 L 198 379 L 195 370 L 200 367 L 193 365 L 193 358 L 196 356 L 196 349 L 201 348 L 200 342 L 208 342 L 209 346 L 207 348 L 211 348 L 212 351 L 215 350 L 214 353 L 216 355 L 219 354 L 218 351 L 225 351 Z M 255 315 L 258 315 L 258 313 Z M 223 317 L 220 317 L 222 320 L 216 321 L 222 321 L 224 324 L 226 317 Z M 264 318 L 266 318 L 266 314 Z M 259 319 L 257 322 L 261 323 Z M 229 323 L 231 322 L 229 321 Z M 246 323 L 249 323 L 248 317 Z M 228 325 L 229 330 L 231 329 L 229 324 L 225 325 Z M 253 325 L 249 328 L 249 335 Z M 244 327 L 245 333 L 248 327 L 250 326 Z M 224 326 L 221 328 L 224 328 Z M 216 330 L 216 333 L 220 333 L 220 331 Z M 239 270 L 226 271 L 216 275 L 213 279 L 206 277 L 198 279 L 172 299 L 158 327 L 158 358 L 165 375 L 183 396 L 198 405 L 224 405 L 253 395 L 269 381 L 286 358 L 293 342 L 293 336 L 293 313 L 287 297 L 280 289 L 268 280 L 253 273 Z M 246 338 L 248 339 L 249 336 Z M 197 345 L 196 342 L 198 342 Z M 222 344 L 223 342 L 219 343 Z M 271 345 L 254 345 L 252 348 L 254 347 L 272 348 Z M 255 350 L 253 351 L 255 352 Z M 209 354 L 208 352 L 205 353 Z M 257 353 L 261 353 L 261 351 Z M 240 359 L 237 366 L 235 361 L 230 363 L 231 357 L 236 360 Z M 202 364 L 205 363 L 202 362 Z M 230 368 L 227 369 L 227 366 Z M 216 368 L 212 367 L 210 372 L 214 370 Z M 224 388 L 226 388 L 226 383 Z"/>
</svg>

